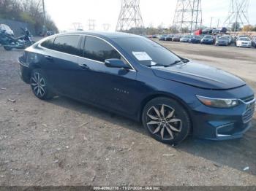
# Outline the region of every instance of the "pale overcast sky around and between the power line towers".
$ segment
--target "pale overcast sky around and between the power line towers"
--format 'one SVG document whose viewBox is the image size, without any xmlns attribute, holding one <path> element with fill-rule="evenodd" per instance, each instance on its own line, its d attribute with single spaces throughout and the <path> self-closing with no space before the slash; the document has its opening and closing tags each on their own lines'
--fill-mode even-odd
<svg viewBox="0 0 256 191">
<path fill-rule="evenodd" d="M 59 29 L 70 30 L 72 23 L 82 23 L 88 29 L 88 20 L 94 19 L 96 30 L 103 30 L 103 23 L 110 24 L 110 31 L 114 31 L 121 9 L 120 0 L 45 0 L 48 14 L 53 18 Z M 256 1 L 251 0 L 249 5 L 249 21 L 256 24 Z M 173 23 L 176 9 L 176 0 L 140 0 L 140 12 L 145 26 L 153 24 L 168 27 Z M 202 0 L 203 25 L 209 26 L 213 17 L 212 26 L 217 27 L 224 23 L 229 9 L 229 0 Z"/>
</svg>

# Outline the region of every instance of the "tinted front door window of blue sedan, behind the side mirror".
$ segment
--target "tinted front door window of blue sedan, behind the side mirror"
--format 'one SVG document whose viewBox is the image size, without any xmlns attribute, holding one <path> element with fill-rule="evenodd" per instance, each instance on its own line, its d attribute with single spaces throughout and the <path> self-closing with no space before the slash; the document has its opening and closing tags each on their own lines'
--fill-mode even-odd
<svg viewBox="0 0 256 191">
<path fill-rule="evenodd" d="M 84 57 L 100 62 L 110 58 L 121 59 L 121 55 L 110 44 L 92 36 L 86 36 Z"/>
</svg>

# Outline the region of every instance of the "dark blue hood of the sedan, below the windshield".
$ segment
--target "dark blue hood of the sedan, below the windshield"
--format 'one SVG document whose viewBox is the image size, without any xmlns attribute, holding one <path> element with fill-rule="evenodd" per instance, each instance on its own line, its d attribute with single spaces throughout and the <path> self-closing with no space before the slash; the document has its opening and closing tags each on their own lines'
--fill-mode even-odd
<svg viewBox="0 0 256 191">
<path fill-rule="evenodd" d="M 211 90 L 228 90 L 246 85 L 242 79 L 233 74 L 195 62 L 170 67 L 155 67 L 153 72 L 163 79 Z"/>
</svg>

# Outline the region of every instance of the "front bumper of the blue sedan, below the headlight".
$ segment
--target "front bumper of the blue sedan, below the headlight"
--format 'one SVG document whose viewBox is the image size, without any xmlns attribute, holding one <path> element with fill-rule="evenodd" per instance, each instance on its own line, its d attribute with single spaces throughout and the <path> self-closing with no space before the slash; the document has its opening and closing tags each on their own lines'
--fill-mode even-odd
<svg viewBox="0 0 256 191">
<path fill-rule="evenodd" d="M 198 106 L 192 112 L 193 134 L 199 138 L 211 140 L 238 139 L 252 127 L 255 112 L 255 98 L 233 109 L 216 109 Z"/>
</svg>

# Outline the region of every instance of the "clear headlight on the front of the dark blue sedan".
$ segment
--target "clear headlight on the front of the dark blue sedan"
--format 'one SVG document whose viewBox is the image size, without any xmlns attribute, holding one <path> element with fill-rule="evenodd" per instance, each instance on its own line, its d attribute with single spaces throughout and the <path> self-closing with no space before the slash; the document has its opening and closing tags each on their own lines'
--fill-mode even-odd
<svg viewBox="0 0 256 191">
<path fill-rule="evenodd" d="M 197 95 L 197 98 L 204 105 L 217 108 L 230 108 L 239 104 L 238 99 L 206 98 L 200 95 Z"/>
</svg>

